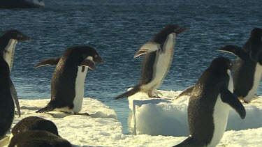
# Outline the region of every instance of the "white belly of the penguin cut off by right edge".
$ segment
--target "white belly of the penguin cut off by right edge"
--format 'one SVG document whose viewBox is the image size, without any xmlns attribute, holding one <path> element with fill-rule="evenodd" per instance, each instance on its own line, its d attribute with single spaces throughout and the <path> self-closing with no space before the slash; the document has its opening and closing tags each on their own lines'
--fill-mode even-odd
<svg viewBox="0 0 262 147">
<path fill-rule="evenodd" d="M 247 96 L 245 96 L 244 98 L 245 102 L 250 102 L 254 97 L 254 95 L 256 94 L 257 88 L 259 87 L 261 81 L 261 74 L 262 74 L 262 66 L 259 63 L 256 63 L 253 86 L 250 89 L 250 91 L 247 93 Z"/>
</svg>

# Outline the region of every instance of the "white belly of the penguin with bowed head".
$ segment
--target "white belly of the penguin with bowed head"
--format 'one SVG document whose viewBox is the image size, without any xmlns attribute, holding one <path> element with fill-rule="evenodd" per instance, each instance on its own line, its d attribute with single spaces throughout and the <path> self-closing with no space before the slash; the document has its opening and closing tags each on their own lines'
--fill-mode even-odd
<svg viewBox="0 0 262 147">
<path fill-rule="evenodd" d="M 78 75 L 75 79 L 75 98 L 73 99 L 73 112 L 79 112 L 82 109 L 82 100 L 84 98 L 84 86 L 87 69 L 88 68 L 85 66 L 78 67 Z"/>
</svg>

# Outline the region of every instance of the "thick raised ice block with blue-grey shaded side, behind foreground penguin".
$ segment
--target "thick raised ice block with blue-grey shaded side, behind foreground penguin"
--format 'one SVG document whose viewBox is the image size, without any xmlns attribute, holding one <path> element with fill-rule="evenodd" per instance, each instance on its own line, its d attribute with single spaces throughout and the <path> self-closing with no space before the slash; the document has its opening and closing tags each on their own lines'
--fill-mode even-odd
<svg viewBox="0 0 262 147">
<path fill-rule="evenodd" d="M 188 136 L 187 107 L 189 98 L 174 100 L 179 93 L 161 91 L 164 99 L 148 98 L 137 93 L 129 98 L 132 105 L 131 130 L 134 134 Z M 168 95 L 168 96 L 166 96 Z M 165 100 L 167 99 L 167 100 Z M 251 104 L 244 105 L 247 116 L 244 120 L 231 109 L 226 130 L 245 130 L 262 127 L 262 105 L 259 98 Z"/>
</svg>

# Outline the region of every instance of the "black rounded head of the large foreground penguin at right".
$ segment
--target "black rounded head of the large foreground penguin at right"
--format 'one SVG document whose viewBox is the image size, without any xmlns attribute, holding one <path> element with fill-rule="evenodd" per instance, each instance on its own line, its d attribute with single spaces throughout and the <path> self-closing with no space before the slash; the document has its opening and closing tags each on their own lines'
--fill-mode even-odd
<svg viewBox="0 0 262 147">
<path fill-rule="evenodd" d="M 224 56 L 217 57 L 210 64 L 210 69 L 216 73 L 226 73 L 232 70 L 232 61 Z"/>
</svg>

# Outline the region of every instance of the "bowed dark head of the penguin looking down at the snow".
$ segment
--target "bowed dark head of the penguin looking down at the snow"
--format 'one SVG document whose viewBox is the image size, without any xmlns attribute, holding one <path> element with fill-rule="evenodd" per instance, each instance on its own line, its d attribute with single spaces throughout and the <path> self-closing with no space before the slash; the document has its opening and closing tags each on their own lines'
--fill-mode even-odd
<svg viewBox="0 0 262 147">
<path fill-rule="evenodd" d="M 103 59 L 99 56 L 99 53 L 96 52 L 96 49 L 89 46 L 76 46 L 76 47 L 70 47 L 69 49 L 73 49 L 72 52 L 78 52 L 82 59 L 85 60 L 89 56 L 92 57 L 92 60 L 97 63 L 103 63 Z"/>
</svg>

